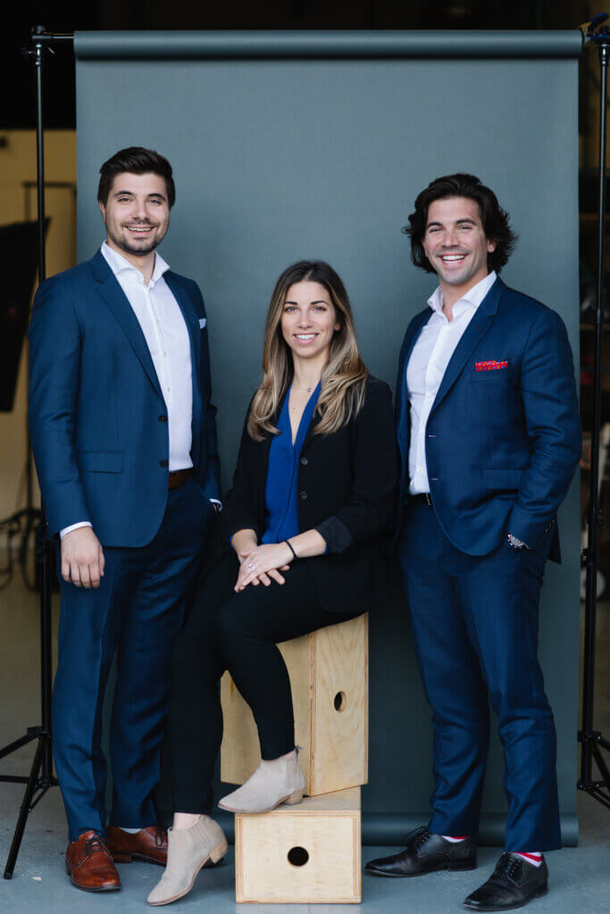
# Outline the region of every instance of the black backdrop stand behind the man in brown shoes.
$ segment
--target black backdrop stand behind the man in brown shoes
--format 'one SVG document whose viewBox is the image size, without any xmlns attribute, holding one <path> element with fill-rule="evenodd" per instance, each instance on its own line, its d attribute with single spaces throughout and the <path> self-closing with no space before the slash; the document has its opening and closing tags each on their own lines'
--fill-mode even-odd
<svg viewBox="0 0 610 914">
<path fill-rule="evenodd" d="M 31 48 L 28 54 L 33 58 L 37 76 L 37 192 L 38 192 L 38 281 L 47 275 L 45 258 L 45 162 L 44 132 L 42 119 L 42 65 L 47 51 L 54 53 L 53 45 L 71 41 L 71 35 L 49 35 L 44 27 L 32 29 Z M 43 514 L 44 517 L 44 514 Z M 5 866 L 5 879 L 13 876 L 17 854 L 32 812 L 49 787 L 58 781 L 53 775 L 53 753 L 51 749 L 51 547 L 45 537 L 44 523 L 37 532 L 36 558 L 40 566 L 40 706 L 41 723 L 28 727 L 25 736 L 0 749 L 0 759 L 15 752 L 29 742 L 37 740 L 37 749 L 28 777 L 0 775 L 0 781 L 26 783 L 26 792 L 17 819 L 13 842 Z"/>
</svg>

